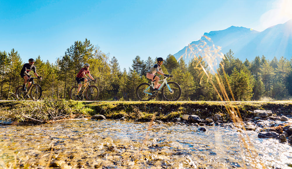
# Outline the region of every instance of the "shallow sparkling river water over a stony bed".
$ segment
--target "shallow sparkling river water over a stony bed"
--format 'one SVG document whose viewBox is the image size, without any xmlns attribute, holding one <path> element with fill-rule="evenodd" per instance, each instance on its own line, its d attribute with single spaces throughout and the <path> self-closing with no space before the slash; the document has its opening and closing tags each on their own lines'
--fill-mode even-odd
<svg viewBox="0 0 292 169">
<path fill-rule="evenodd" d="M 15 163 L 32 168 L 290 168 L 292 161 L 288 143 L 239 132 L 232 124 L 206 126 L 206 132 L 197 126 L 149 124 L 87 120 L 0 126 L 0 168 Z"/>
</svg>

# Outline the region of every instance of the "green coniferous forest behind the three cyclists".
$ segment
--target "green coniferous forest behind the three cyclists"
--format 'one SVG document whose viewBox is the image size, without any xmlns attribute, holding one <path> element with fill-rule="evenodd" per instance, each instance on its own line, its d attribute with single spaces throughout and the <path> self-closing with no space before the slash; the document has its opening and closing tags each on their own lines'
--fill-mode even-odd
<svg viewBox="0 0 292 169">
<path fill-rule="evenodd" d="M 251 61 L 241 61 L 234 57 L 230 49 L 225 54 L 226 59 L 221 61 L 224 71 L 220 66 L 219 75 L 213 75 L 208 71 L 205 61 L 192 59 L 185 63 L 180 59 L 177 62 L 172 54 L 161 57 L 166 60 L 162 71 L 173 75 L 171 81 L 177 82 L 182 88 L 179 101 L 220 101 L 210 83 L 212 81 L 220 89 L 216 76 L 222 79 L 225 88 L 231 88 L 236 101 L 290 100 L 292 95 L 292 59 L 275 56 L 270 61 L 265 56 L 255 56 Z M 199 62 L 210 79 L 202 69 L 196 67 Z M 28 61 L 22 61 L 17 50 L 0 51 L 0 100 L 13 99 L 15 88 L 23 84 L 20 70 L 24 63 Z M 69 91 L 77 85 L 75 77 L 84 63 L 91 65 L 91 75 L 97 79 L 95 85 L 100 91 L 98 100 L 137 101 L 136 88 L 140 83 L 148 82 L 146 72 L 156 63 L 156 58 L 148 57 L 144 61 L 139 56 L 133 56 L 131 68 L 121 70 L 117 58 L 103 53 L 99 46 L 92 45 L 87 39 L 84 42 L 76 41 L 53 64 L 43 61 L 41 56 L 36 57 L 36 71 L 43 77 L 42 81 L 37 82 L 43 89 L 42 98 L 69 100 Z M 232 98 L 230 90 L 226 89 L 226 92 Z M 163 98 L 158 96 L 159 99 Z"/>
</svg>

